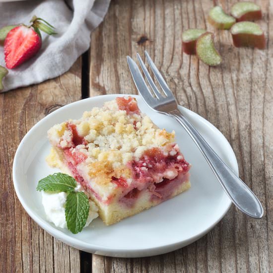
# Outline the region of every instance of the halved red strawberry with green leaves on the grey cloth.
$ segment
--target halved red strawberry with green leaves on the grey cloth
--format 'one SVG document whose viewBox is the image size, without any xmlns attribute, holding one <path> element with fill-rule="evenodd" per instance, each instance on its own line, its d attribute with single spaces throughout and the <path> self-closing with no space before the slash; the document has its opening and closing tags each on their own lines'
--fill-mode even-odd
<svg viewBox="0 0 273 273">
<path fill-rule="evenodd" d="M 30 26 L 19 25 L 11 29 L 4 41 L 4 54 L 6 67 L 16 68 L 33 57 L 42 46 L 40 30 L 47 34 L 56 34 L 53 26 L 41 18 L 33 16 Z"/>
</svg>

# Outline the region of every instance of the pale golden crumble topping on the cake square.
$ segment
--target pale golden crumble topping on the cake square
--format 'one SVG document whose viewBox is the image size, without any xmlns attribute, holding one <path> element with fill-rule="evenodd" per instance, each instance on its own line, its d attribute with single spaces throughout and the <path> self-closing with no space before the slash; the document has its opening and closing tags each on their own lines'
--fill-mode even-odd
<svg viewBox="0 0 273 273">
<path fill-rule="evenodd" d="M 78 150 L 86 154 L 88 163 L 107 160 L 116 168 L 133 156 L 140 158 L 148 148 L 173 142 L 174 132 L 159 129 L 148 116 L 139 113 L 133 104 L 135 99 L 128 100 L 135 112 L 119 110 L 120 105 L 113 100 L 84 112 L 79 120 L 53 126 L 48 132 L 52 144 L 62 149 L 76 146 L 72 153 Z"/>
</svg>

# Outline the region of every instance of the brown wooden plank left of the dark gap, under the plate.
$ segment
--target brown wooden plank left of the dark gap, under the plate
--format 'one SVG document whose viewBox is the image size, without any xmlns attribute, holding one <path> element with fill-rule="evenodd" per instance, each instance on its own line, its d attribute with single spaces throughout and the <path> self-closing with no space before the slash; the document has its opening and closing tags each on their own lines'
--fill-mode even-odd
<svg viewBox="0 0 273 273">
<path fill-rule="evenodd" d="M 12 161 L 22 137 L 43 117 L 81 98 L 81 61 L 64 75 L 0 94 L 0 272 L 79 272 L 79 251 L 40 228 L 22 208 Z"/>
</svg>

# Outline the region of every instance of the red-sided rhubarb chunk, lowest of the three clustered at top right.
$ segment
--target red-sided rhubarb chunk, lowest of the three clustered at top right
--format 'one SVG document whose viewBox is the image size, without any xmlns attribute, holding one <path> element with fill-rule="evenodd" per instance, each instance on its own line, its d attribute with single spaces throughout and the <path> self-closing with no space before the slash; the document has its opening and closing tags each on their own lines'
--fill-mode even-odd
<svg viewBox="0 0 273 273">
<path fill-rule="evenodd" d="M 231 35 L 235 47 L 266 48 L 263 30 L 253 22 L 239 22 L 232 26 Z"/>
</svg>

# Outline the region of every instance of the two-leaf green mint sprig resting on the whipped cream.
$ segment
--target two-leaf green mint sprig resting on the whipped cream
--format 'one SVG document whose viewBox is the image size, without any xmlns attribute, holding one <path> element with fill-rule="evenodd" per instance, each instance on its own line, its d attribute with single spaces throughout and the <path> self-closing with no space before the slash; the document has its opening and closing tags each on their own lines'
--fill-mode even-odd
<svg viewBox="0 0 273 273">
<path fill-rule="evenodd" d="M 74 192 L 76 180 L 64 173 L 48 175 L 38 182 L 37 191 L 49 191 L 53 193 L 68 193 L 65 204 L 65 215 L 68 229 L 76 234 L 86 224 L 90 204 L 83 192 Z"/>
</svg>

